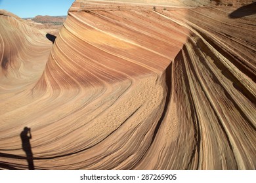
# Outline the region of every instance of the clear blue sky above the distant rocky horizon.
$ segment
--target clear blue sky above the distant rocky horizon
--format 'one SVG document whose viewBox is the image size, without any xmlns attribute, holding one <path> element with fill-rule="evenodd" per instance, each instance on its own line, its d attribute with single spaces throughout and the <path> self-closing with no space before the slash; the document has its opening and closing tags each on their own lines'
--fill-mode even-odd
<svg viewBox="0 0 256 183">
<path fill-rule="evenodd" d="M 8 10 L 21 18 L 37 15 L 67 15 L 75 0 L 0 0 L 0 9 Z"/>
</svg>

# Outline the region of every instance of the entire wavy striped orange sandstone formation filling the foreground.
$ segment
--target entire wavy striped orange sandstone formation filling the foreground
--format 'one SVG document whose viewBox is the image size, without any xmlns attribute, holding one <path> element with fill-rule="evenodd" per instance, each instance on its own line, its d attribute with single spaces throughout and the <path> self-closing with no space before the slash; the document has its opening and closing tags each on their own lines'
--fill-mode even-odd
<svg viewBox="0 0 256 183">
<path fill-rule="evenodd" d="M 0 15 L 1 169 L 256 168 L 255 14 L 83 3 L 56 39 Z"/>
</svg>

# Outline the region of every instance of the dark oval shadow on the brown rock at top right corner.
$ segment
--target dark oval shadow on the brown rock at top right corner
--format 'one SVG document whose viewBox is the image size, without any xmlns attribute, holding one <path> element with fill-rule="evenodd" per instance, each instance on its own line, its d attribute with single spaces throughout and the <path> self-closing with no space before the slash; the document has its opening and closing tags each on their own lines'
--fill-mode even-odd
<svg viewBox="0 0 256 183">
<path fill-rule="evenodd" d="M 244 7 L 240 7 L 234 12 L 228 15 L 229 18 L 242 18 L 244 16 L 249 16 L 252 14 L 256 14 L 256 3 L 251 3 L 249 5 L 245 5 Z"/>
</svg>

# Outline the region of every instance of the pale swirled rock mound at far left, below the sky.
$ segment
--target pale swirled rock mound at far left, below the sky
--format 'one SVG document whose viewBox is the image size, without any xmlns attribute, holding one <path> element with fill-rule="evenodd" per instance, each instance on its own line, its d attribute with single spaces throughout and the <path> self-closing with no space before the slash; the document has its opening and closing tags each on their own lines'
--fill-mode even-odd
<svg viewBox="0 0 256 183">
<path fill-rule="evenodd" d="M 1 10 L 0 88 L 10 92 L 35 82 L 43 73 L 52 44 L 45 33 Z"/>
</svg>

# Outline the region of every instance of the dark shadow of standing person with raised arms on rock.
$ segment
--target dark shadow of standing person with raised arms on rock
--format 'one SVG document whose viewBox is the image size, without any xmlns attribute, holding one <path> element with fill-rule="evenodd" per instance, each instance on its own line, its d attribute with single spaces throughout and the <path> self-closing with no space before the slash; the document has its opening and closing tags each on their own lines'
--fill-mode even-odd
<svg viewBox="0 0 256 183">
<path fill-rule="evenodd" d="M 30 139 L 32 139 L 31 130 L 28 127 L 24 127 L 22 133 L 20 133 L 20 138 L 22 139 L 22 149 L 26 152 L 28 169 L 33 170 L 33 153 L 30 145 Z"/>
</svg>

